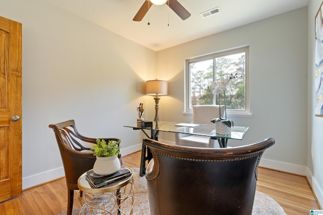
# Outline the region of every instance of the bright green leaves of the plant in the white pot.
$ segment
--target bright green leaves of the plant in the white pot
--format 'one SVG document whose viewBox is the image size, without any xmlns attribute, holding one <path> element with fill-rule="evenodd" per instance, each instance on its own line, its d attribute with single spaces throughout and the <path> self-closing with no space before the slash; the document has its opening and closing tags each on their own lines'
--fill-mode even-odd
<svg viewBox="0 0 323 215">
<path fill-rule="evenodd" d="M 93 156 L 97 157 L 111 157 L 120 154 L 120 140 L 109 140 L 106 144 L 104 139 L 96 139 L 96 144 L 94 145 L 92 152 L 94 152 Z"/>
</svg>

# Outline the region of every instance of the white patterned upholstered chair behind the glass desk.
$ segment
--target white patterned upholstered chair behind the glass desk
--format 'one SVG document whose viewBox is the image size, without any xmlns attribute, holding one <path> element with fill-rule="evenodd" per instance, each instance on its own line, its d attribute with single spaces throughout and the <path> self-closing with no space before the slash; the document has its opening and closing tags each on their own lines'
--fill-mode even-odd
<svg viewBox="0 0 323 215">
<path fill-rule="evenodd" d="M 220 118 L 219 107 L 219 105 L 194 105 L 192 123 L 214 125 L 211 120 Z M 224 111 L 225 106 L 221 105 L 221 117 L 223 117 Z M 220 148 L 218 140 L 211 139 L 208 136 L 189 135 L 185 133 L 175 133 L 175 144 L 187 147 Z"/>
</svg>

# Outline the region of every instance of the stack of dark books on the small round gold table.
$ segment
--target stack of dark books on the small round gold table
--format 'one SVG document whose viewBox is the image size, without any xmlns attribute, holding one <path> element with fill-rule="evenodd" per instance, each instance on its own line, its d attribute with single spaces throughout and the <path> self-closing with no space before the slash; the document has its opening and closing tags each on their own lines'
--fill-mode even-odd
<svg viewBox="0 0 323 215">
<path fill-rule="evenodd" d="M 131 175 L 131 171 L 129 168 L 125 166 L 121 166 L 118 172 L 111 175 L 97 175 L 93 172 L 93 170 L 89 170 L 86 172 L 85 179 L 89 182 L 92 188 L 101 188 L 118 181 L 121 181 L 128 176 Z"/>
</svg>

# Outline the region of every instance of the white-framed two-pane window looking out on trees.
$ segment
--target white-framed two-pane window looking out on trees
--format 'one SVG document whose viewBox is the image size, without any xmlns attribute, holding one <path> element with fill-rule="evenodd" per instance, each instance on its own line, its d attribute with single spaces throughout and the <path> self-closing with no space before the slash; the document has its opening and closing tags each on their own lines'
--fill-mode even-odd
<svg viewBox="0 0 323 215">
<path fill-rule="evenodd" d="M 243 47 L 186 59 L 185 111 L 192 112 L 193 105 L 226 103 L 229 114 L 249 113 L 248 58 L 249 47 Z M 213 82 L 230 76 L 235 78 L 224 92 L 212 92 Z"/>
</svg>

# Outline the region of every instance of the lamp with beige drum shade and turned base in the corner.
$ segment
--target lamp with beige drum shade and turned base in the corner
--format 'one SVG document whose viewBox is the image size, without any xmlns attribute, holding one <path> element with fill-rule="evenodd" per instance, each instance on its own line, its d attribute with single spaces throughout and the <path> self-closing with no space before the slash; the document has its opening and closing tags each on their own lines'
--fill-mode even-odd
<svg viewBox="0 0 323 215">
<path fill-rule="evenodd" d="M 147 95 L 156 95 L 153 99 L 155 100 L 155 119 L 154 121 L 159 121 L 158 118 L 158 95 L 167 95 L 167 81 L 161 80 L 151 80 L 146 81 L 146 94 Z"/>
</svg>

